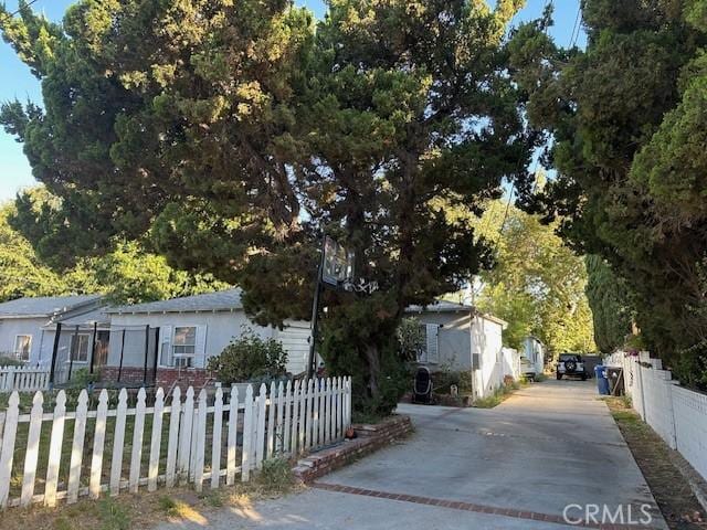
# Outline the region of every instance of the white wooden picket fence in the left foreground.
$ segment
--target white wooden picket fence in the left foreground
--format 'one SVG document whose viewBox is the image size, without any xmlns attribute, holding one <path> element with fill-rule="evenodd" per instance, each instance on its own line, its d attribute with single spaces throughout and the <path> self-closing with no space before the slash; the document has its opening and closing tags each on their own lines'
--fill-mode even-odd
<svg viewBox="0 0 707 530">
<path fill-rule="evenodd" d="M 96 499 L 105 491 L 115 496 L 178 484 L 201 491 L 204 483 L 233 485 L 239 475 L 247 481 L 263 460 L 337 443 L 351 423 L 350 378 L 273 383 L 270 392 L 263 384 L 258 395 L 252 386 L 244 395 L 235 386 L 228 395 L 219 388 L 212 399 L 205 390 L 194 398 L 191 386 L 182 399 L 176 388 L 169 403 L 158 389 L 152 406 L 146 406 L 140 389 L 134 409 L 125 389 L 115 409 L 108 399 L 102 391 L 96 409 L 88 410 L 82 391 L 68 412 L 60 391 L 53 412 L 44 412 L 44 395 L 36 392 L 31 412 L 21 414 L 20 395 L 11 394 L 0 413 L 0 508 L 51 507 L 60 499 L 76 502 L 81 496 Z M 43 428 L 49 437 L 42 438 Z"/>
</svg>

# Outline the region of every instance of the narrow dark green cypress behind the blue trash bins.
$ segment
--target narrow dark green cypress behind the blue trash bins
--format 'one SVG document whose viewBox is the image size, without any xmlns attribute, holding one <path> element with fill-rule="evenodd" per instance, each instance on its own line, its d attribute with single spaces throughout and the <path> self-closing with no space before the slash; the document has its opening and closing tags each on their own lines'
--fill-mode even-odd
<svg viewBox="0 0 707 530">
<path fill-rule="evenodd" d="M 594 341 L 600 351 L 611 353 L 622 348 L 631 333 L 632 309 L 625 283 L 616 277 L 600 256 L 590 255 L 587 263 L 587 298 L 592 308 Z"/>
</svg>

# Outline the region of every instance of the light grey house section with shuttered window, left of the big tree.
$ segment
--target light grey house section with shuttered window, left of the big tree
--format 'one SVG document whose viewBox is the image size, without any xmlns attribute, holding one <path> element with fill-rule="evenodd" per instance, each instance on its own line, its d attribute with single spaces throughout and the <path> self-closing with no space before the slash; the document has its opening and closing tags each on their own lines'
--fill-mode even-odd
<svg viewBox="0 0 707 530">
<path fill-rule="evenodd" d="M 208 359 L 221 353 L 243 327 L 282 341 L 288 372 L 306 368 L 309 324 L 286 321 L 282 330 L 257 326 L 245 315 L 239 288 L 113 307 L 106 312 L 110 338 L 103 379 L 118 380 L 119 375 L 122 382 L 155 381 L 168 388 L 177 379 L 203 384 Z"/>
</svg>

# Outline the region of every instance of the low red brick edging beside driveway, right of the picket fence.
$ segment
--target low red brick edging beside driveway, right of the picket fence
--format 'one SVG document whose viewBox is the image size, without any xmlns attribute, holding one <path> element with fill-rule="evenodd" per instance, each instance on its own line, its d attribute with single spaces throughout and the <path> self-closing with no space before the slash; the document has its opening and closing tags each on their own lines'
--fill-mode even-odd
<svg viewBox="0 0 707 530">
<path fill-rule="evenodd" d="M 302 458 L 293 468 L 295 479 L 312 483 L 317 478 L 374 451 L 390 445 L 412 432 L 410 416 L 392 416 L 381 423 L 354 425 L 357 437 Z"/>
</svg>

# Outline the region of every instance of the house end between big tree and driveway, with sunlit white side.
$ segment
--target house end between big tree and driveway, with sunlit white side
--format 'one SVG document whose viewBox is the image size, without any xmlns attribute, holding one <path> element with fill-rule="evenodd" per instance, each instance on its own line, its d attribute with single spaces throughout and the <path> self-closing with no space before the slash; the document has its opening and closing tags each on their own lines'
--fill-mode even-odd
<svg viewBox="0 0 707 530">
<path fill-rule="evenodd" d="M 405 314 L 416 318 L 424 330 L 420 363 L 432 371 L 472 370 L 476 398 L 488 395 L 503 384 L 502 333 L 507 322 L 481 314 L 473 306 L 446 300 L 410 306 Z"/>
</svg>

